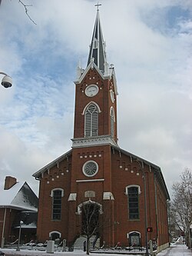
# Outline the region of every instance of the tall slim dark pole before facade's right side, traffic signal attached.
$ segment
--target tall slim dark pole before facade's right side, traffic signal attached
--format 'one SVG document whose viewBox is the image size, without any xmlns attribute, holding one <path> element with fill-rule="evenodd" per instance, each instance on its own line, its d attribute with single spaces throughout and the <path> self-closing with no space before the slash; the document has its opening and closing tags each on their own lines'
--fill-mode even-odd
<svg viewBox="0 0 192 256">
<path fill-rule="evenodd" d="M 148 234 L 147 234 L 147 189 L 146 189 L 146 175 L 144 172 L 144 165 L 140 163 L 138 159 L 136 159 L 137 163 L 141 167 L 141 171 L 144 177 L 144 234 L 145 234 L 145 247 L 146 247 L 146 252 L 145 256 L 149 256 L 149 250 L 148 250 Z"/>
</svg>

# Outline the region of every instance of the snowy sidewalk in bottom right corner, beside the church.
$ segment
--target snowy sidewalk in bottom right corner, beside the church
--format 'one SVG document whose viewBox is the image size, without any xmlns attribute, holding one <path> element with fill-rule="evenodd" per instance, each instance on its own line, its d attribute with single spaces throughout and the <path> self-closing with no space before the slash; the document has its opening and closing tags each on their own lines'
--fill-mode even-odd
<svg viewBox="0 0 192 256">
<path fill-rule="evenodd" d="M 157 256 L 192 256 L 192 251 L 187 249 L 186 244 L 177 243 L 161 251 Z"/>
</svg>

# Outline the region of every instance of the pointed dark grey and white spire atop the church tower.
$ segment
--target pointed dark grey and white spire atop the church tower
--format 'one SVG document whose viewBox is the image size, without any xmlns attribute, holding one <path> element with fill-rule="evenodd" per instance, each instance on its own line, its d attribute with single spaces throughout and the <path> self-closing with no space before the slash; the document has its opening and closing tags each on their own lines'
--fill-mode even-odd
<svg viewBox="0 0 192 256">
<path fill-rule="evenodd" d="M 94 63 L 98 66 L 98 68 L 104 72 L 104 64 L 106 62 L 105 43 L 99 17 L 99 4 L 95 6 L 97 6 L 97 15 L 94 23 L 94 32 L 91 39 L 90 52 L 88 55 L 88 65 L 92 60 L 94 60 Z"/>
</svg>

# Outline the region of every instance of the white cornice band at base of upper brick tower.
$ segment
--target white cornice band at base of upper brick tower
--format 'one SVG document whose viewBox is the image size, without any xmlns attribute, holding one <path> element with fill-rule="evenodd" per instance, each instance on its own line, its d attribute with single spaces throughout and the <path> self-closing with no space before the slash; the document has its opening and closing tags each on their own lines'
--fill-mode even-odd
<svg viewBox="0 0 192 256">
<path fill-rule="evenodd" d="M 111 138 L 110 135 L 101 135 L 88 138 L 71 138 L 72 148 L 90 147 L 98 145 L 113 145 L 118 147 L 118 144 Z"/>
</svg>

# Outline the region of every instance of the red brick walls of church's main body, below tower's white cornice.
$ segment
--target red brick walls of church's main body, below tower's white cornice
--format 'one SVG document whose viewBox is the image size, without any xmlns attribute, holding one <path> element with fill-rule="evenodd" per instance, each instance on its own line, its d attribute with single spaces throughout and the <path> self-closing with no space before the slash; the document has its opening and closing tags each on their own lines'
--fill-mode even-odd
<svg viewBox="0 0 192 256">
<path fill-rule="evenodd" d="M 89 160 L 96 161 L 99 167 L 97 175 L 93 178 L 84 176 L 82 172 L 84 163 Z M 127 234 L 131 231 L 138 231 L 141 233 L 142 245 L 145 245 L 144 178 L 141 165 L 137 161 L 131 162 L 130 156 L 120 154 L 116 150 L 111 151 L 111 146 L 103 145 L 74 148 L 72 157 L 68 161 L 61 161 L 59 165 L 59 168 L 56 165 L 51 168 L 49 175 L 46 172 L 41 179 L 38 208 L 39 241 L 46 241 L 50 231 L 59 231 L 62 238 L 66 238 L 68 242 L 74 241 L 75 236 L 81 234 L 82 216 L 76 214 L 78 205 L 88 201 L 88 198 L 84 198 L 85 191 L 95 191 L 95 198 L 91 200 L 102 204 L 104 208 L 104 215 L 101 216 L 101 220 L 104 219 L 101 239 L 112 246 L 118 241 L 127 246 Z M 67 167 L 68 165 L 70 168 Z M 60 174 L 61 171 L 64 175 Z M 154 170 L 151 170 L 149 165 L 144 165 L 144 172 L 146 175 L 147 226 L 153 228 L 153 232 L 148 233 L 148 240 L 158 238 L 158 244 L 161 245 L 168 241 L 166 198 L 161 186 L 154 178 Z M 86 182 L 90 179 L 98 181 Z M 127 194 L 125 194 L 127 185 L 141 187 L 138 220 L 128 219 Z M 50 194 L 53 188 L 65 190 L 65 196 L 62 198 L 61 221 L 51 221 Z M 103 192 L 111 192 L 114 195 L 114 201 L 103 201 Z M 76 201 L 68 201 L 70 193 L 77 193 Z M 157 209 L 155 194 L 157 194 Z M 104 218 L 106 214 L 108 215 L 107 221 Z"/>
</svg>

